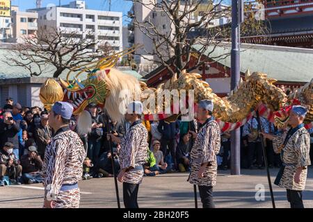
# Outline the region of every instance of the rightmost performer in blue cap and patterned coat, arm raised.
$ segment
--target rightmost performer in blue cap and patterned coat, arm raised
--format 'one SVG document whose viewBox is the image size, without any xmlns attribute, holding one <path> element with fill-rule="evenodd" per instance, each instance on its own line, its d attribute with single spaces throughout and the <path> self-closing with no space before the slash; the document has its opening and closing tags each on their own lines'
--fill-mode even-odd
<svg viewBox="0 0 313 222">
<path fill-rule="evenodd" d="M 288 125 L 291 127 L 283 135 L 273 136 L 262 133 L 273 139 L 275 153 L 280 153 L 282 167 L 274 184 L 287 189 L 287 200 L 291 208 L 303 208 L 302 191 L 307 179 L 307 166 L 310 161 L 310 134 L 303 121 L 307 108 L 294 105 L 289 114 Z"/>
</svg>

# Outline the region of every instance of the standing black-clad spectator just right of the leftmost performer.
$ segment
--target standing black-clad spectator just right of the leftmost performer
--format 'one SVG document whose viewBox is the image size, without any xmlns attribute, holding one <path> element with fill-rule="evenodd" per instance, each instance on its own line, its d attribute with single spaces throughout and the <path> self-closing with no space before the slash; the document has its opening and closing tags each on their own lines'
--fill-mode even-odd
<svg viewBox="0 0 313 222">
<path fill-rule="evenodd" d="M 101 148 L 104 121 L 102 116 L 98 114 L 97 105 L 95 103 L 90 103 L 88 108 L 92 119 L 92 126 L 91 133 L 88 137 L 87 157 L 89 157 L 92 162 L 96 163 Z"/>
</svg>

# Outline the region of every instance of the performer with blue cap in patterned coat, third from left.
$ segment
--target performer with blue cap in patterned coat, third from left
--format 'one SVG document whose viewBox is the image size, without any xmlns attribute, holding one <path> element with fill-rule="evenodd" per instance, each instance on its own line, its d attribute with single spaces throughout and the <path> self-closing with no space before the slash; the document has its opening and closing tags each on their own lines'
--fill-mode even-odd
<svg viewBox="0 0 313 222">
<path fill-rule="evenodd" d="M 220 151 L 220 128 L 212 116 L 214 104 L 210 100 L 198 103 L 197 117 L 201 125 L 191 149 L 191 174 L 188 181 L 198 185 L 203 208 L 214 208 L 213 187 L 216 185 L 216 155 Z"/>
</svg>

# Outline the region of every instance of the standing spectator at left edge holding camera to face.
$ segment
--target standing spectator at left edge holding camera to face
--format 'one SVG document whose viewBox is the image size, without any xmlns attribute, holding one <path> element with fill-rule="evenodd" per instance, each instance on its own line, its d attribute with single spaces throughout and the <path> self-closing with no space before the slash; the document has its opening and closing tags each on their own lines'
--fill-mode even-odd
<svg viewBox="0 0 313 222">
<path fill-rule="evenodd" d="M 0 121 L 0 147 L 6 142 L 11 142 L 14 146 L 13 153 L 19 160 L 19 122 L 15 122 L 10 112 L 4 112 L 3 121 Z"/>
</svg>

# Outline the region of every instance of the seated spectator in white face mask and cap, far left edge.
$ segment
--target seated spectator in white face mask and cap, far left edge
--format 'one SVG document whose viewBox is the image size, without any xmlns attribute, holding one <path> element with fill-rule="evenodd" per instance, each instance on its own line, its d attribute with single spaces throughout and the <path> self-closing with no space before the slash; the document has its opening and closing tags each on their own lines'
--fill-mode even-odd
<svg viewBox="0 0 313 222">
<path fill-rule="evenodd" d="M 18 181 L 22 166 L 18 164 L 13 148 L 14 145 L 11 142 L 6 142 L 0 151 L 0 187 L 4 186 L 4 176 L 9 177 L 12 185 L 20 185 Z"/>
</svg>

